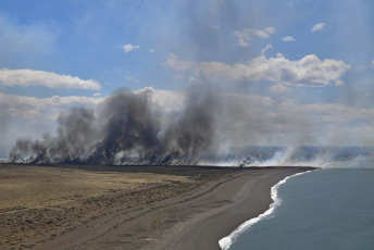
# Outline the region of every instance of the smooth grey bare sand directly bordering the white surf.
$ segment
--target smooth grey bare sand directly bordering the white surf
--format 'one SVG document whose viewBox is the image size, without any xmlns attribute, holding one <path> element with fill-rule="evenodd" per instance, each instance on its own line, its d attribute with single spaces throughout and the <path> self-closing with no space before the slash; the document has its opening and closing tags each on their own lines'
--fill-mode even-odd
<svg viewBox="0 0 374 250">
<path fill-rule="evenodd" d="M 257 217 L 272 203 L 271 188 L 287 176 L 303 173 L 310 167 L 264 167 L 241 173 L 217 187 L 209 196 L 196 199 L 201 209 L 189 220 L 172 226 L 153 246 L 145 249 L 221 250 L 219 241 L 244 222 Z M 222 205 L 203 209 L 204 204 Z M 187 208 L 186 208 L 187 209 Z"/>
</svg>

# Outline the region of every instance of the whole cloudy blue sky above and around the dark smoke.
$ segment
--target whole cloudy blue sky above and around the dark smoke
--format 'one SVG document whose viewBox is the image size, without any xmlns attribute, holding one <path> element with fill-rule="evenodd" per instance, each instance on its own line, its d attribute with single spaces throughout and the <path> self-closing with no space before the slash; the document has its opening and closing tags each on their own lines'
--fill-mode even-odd
<svg viewBox="0 0 374 250">
<path fill-rule="evenodd" d="M 191 85 L 245 110 L 230 146 L 374 146 L 373 23 L 371 0 L 0 0 L 0 157 L 119 88 L 169 111 Z"/>
</svg>

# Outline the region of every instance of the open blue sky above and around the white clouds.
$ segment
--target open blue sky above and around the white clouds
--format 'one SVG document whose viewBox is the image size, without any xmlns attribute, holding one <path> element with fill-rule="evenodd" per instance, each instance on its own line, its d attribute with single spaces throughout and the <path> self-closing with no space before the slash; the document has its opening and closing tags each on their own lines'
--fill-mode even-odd
<svg viewBox="0 0 374 250">
<path fill-rule="evenodd" d="M 117 87 L 179 89 L 185 80 L 164 67 L 170 53 L 183 60 L 235 63 L 280 52 L 288 60 L 370 65 L 374 59 L 371 1 L 1 1 L 2 68 L 32 68 L 95 79 L 102 95 Z M 311 28 L 324 23 L 322 30 Z M 277 32 L 236 46 L 244 28 Z M 295 41 L 282 38 L 291 36 Z M 140 49 L 124 53 L 124 45 Z M 150 52 L 150 50 L 154 52 Z M 50 89 L 28 95 L 54 96 Z M 5 88 L 7 92 L 24 90 Z M 61 91 L 59 95 L 75 95 Z M 91 92 L 79 91 L 89 96 Z"/>
</svg>

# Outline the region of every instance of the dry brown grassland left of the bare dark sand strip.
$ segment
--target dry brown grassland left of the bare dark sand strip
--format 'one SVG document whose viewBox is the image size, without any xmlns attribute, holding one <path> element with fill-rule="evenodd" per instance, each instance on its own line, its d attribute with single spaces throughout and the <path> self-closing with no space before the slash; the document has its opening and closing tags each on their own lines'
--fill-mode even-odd
<svg viewBox="0 0 374 250">
<path fill-rule="evenodd" d="M 109 211 L 166 199 L 214 178 L 209 171 L 201 173 L 0 164 L 0 249 L 33 248 Z"/>
</svg>

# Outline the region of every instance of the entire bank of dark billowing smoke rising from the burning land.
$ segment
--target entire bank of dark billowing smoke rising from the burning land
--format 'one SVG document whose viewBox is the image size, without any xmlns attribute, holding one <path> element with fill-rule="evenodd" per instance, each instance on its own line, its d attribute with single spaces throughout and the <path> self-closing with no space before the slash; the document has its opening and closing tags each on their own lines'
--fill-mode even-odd
<svg viewBox="0 0 374 250">
<path fill-rule="evenodd" d="M 96 111 L 75 108 L 61 113 L 55 137 L 20 139 L 9 159 L 34 163 L 196 163 L 214 141 L 220 111 L 216 96 L 191 86 L 183 111 L 161 123 L 162 111 L 152 107 L 150 95 L 122 89 Z"/>
</svg>

